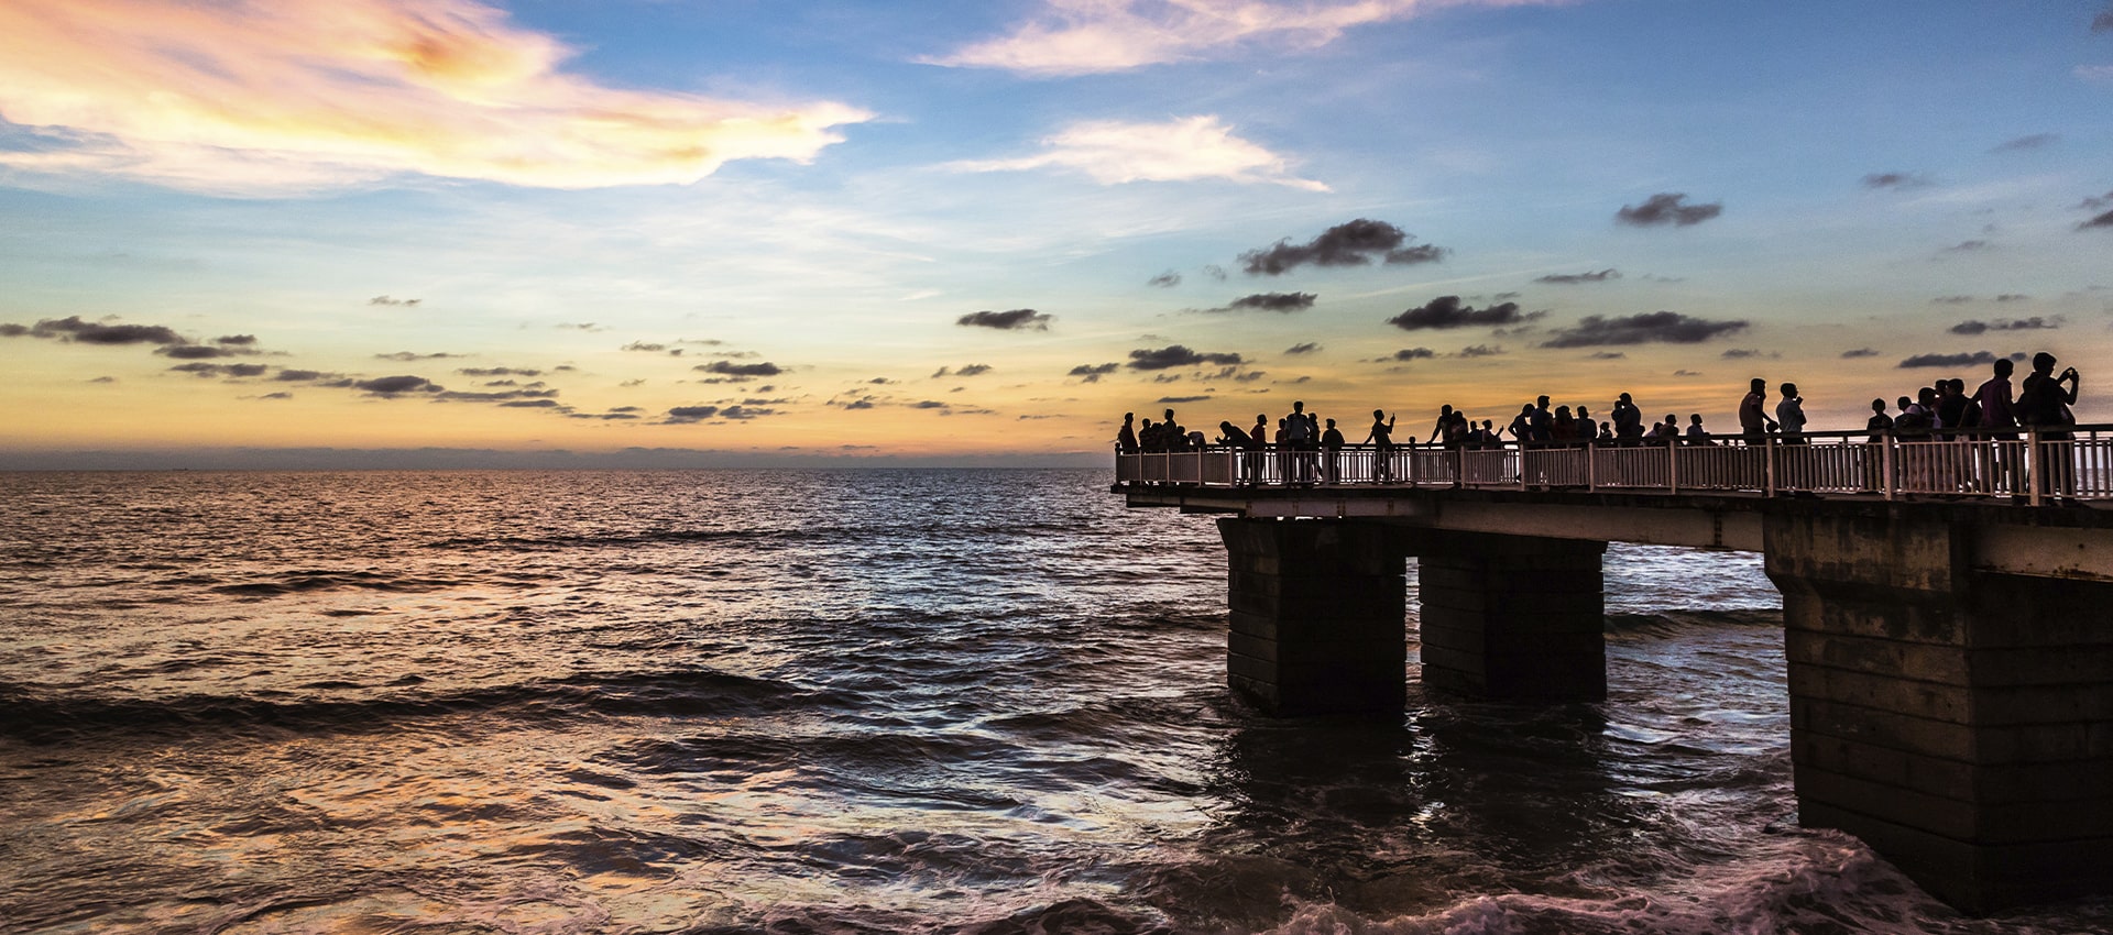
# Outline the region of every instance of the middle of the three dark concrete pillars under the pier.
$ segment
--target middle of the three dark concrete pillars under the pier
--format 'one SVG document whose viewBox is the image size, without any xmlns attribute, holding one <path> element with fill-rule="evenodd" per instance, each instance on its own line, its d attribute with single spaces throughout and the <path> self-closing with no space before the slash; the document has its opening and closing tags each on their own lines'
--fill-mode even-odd
<svg viewBox="0 0 2113 935">
<path fill-rule="evenodd" d="M 1424 686 L 1471 699 L 1606 699 L 1606 542 L 1411 534 Z"/>
</svg>

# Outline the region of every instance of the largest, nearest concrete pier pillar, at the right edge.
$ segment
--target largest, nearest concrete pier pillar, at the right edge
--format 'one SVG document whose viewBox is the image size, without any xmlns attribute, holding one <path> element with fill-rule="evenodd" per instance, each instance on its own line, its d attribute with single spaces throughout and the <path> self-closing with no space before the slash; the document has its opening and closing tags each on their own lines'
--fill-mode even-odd
<svg viewBox="0 0 2113 935">
<path fill-rule="evenodd" d="M 1965 910 L 2113 891 L 2113 585 L 1965 523 L 1771 515 L 1798 817 Z"/>
</svg>

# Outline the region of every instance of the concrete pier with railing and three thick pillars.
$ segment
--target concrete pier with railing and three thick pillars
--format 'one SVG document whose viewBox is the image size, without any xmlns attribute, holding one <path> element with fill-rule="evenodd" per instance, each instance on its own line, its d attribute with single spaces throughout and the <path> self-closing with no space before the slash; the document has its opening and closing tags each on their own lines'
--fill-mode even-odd
<svg viewBox="0 0 2113 935">
<path fill-rule="evenodd" d="M 2113 893 L 2113 426 L 2073 439 L 1118 454 L 1217 515 L 1228 684 L 1276 715 L 1606 697 L 1608 542 L 1762 553 L 1809 827 L 1993 912 Z"/>
</svg>

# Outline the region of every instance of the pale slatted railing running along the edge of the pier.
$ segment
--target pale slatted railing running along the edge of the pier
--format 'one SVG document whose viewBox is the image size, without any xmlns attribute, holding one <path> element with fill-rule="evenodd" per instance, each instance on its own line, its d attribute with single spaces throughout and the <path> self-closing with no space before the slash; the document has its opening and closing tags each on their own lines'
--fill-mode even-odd
<svg viewBox="0 0 2113 935">
<path fill-rule="evenodd" d="M 2113 424 L 1724 437 L 1631 445 L 1342 445 L 1116 454 L 1122 483 L 1570 488 L 1608 492 L 1862 494 L 2005 498 L 2028 504 L 2113 498 Z"/>
</svg>

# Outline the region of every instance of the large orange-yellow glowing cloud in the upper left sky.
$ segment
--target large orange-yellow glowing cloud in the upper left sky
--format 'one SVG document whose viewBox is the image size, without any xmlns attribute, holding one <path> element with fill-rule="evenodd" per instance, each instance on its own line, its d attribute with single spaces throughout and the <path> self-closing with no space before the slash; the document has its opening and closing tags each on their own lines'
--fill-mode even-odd
<svg viewBox="0 0 2113 935">
<path fill-rule="evenodd" d="M 689 184 L 735 158 L 809 160 L 843 103 L 596 84 L 568 49 L 473 0 L 8 0 L 0 167 L 226 194 L 399 173 L 539 188 Z"/>
</svg>

